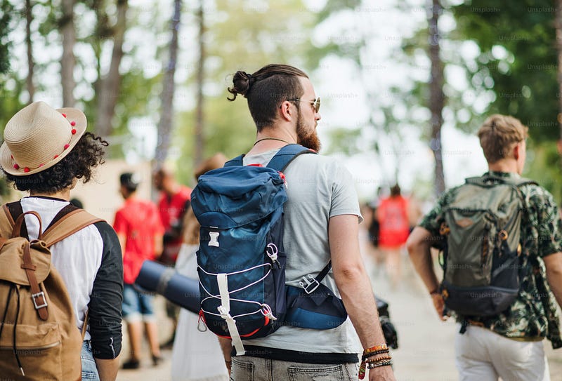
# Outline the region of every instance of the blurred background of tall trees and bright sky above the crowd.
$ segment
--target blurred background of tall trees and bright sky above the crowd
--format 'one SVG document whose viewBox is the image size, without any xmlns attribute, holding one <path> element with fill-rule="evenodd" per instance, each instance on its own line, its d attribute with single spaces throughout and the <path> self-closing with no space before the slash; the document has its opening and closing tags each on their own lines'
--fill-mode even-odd
<svg viewBox="0 0 562 381">
<path fill-rule="evenodd" d="M 530 127 L 526 175 L 562 201 L 552 1 L 0 1 L 0 128 L 32 100 L 80 107 L 111 157 L 172 161 L 192 184 L 202 158 L 254 138 L 244 98 L 226 100 L 231 75 L 287 62 L 322 98 L 325 151 L 377 163 L 358 175 L 374 187 L 454 185 L 443 168 L 480 152 L 451 154 L 441 128 L 473 134 L 499 112 Z"/>
</svg>

